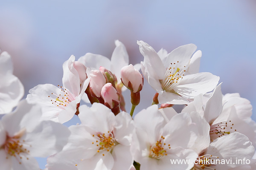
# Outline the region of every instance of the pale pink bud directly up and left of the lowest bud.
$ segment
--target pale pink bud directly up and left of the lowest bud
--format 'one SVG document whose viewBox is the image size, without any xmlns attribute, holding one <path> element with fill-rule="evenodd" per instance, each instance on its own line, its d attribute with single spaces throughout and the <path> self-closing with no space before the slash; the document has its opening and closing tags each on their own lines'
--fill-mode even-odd
<svg viewBox="0 0 256 170">
<path fill-rule="evenodd" d="M 93 97 L 100 97 L 102 87 L 106 84 L 106 79 L 99 70 L 90 71 L 90 93 Z"/>
</svg>

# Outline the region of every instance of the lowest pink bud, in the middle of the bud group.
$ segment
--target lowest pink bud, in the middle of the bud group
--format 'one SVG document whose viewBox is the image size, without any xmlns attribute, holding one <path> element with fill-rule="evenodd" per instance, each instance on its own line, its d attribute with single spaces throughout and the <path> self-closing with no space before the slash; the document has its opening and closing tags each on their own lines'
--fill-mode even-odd
<svg viewBox="0 0 256 170">
<path fill-rule="evenodd" d="M 119 105 L 120 96 L 110 82 L 102 87 L 101 95 L 105 105 L 111 109 Z"/>
</svg>

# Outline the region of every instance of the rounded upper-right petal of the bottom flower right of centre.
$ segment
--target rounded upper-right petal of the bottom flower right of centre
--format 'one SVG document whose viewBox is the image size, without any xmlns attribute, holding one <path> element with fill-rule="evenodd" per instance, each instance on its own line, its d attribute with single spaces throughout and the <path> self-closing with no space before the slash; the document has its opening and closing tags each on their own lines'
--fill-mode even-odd
<svg viewBox="0 0 256 170">
<path fill-rule="evenodd" d="M 162 136 L 165 137 L 164 142 L 170 144 L 171 148 L 186 149 L 194 144 L 197 133 L 197 127 L 189 113 L 179 113 L 163 127 Z"/>
</svg>

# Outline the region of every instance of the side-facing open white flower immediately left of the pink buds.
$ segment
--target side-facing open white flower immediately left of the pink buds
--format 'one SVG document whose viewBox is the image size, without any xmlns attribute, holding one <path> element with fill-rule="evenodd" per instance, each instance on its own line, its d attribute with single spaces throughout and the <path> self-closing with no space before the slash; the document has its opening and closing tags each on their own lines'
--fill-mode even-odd
<svg viewBox="0 0 256 170">
<path fill-rule="evenodd" d="M 79 77 L 77 63 L 72 55 L 63 64 L 63 86 L 52 84 L 37 85 L 29 90 L 26 100 L 42 106 L 42 119 L 64 123 L 70 120 L 80 105 L 80 100 L 90 79 Z M 85 74 L 85 73 L 84 73 Z M 80 86 L 81 79 L 85 79 Z"/>
</svg>

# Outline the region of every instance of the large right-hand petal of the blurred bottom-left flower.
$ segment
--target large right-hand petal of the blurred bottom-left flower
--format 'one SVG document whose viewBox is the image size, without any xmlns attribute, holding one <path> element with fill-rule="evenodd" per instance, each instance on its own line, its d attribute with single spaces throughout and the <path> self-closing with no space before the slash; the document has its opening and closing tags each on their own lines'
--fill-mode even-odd
<svg viewBox="0 0 256 170">
<path fill-rule="evenodd" d="M 30 155 L 46 157 L 60 152 L 67 144 L 69 136 L 70 131 L 64 125 L 43 121 L 31 133 L 27 133 L 24 140 L 28 144 L 27 150 L 29 150 Z"/>
</svg>

